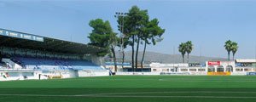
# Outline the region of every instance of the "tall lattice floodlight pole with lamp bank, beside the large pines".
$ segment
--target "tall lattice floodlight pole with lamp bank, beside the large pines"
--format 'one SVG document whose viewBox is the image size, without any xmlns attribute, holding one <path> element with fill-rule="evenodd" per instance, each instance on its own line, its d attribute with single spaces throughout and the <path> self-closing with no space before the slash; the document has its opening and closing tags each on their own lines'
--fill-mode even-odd
<svg viewBox="0 0 256 102">
<path fill-rule="evenodd" d="M 119 19 L 119 17 L 122 18 L 122 21 L 121 21 L 121 26 L 119 27 L 119 30 L 120 30 L 120 37 L 121 37 L 121 42 L 120 42 L 120 49 L 119 49 L 119 58 L 121 59 L 121 53 L 122 53 L 122 56 L 124 57 L 125 55 L 125 52 L 124 52 L 124 37 L 125 37 L 125 34 L 124 34 L 124 17 L 127 15 L 127 13 L 122 13 L 122 12 L 116 12 L 114 17 Z M 122 68 L 124 68 L 124 61 L 122 61 Z"/>
</svg>

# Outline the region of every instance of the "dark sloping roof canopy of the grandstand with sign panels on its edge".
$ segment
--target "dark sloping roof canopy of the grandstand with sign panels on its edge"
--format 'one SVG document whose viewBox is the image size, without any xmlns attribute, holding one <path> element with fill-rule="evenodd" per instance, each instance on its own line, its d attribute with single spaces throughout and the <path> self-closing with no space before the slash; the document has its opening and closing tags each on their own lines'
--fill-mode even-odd
<svg viewBox="0 0 256 102">
<path fill-rule="evenodd" d="M 104 50 L 79 42 L 68 42 L 28 33 L 0 29 L 0 46 L 25 48 L 65 54 L 96 54 Z"/>
</svg>

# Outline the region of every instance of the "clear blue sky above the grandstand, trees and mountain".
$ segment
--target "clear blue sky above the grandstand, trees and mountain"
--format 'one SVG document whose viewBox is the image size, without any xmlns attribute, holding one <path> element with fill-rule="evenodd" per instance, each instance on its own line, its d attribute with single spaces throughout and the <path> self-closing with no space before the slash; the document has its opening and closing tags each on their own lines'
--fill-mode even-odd
<svg viewBox="0 0 256 102">
<path fill-rule="evenodd" d="M 226 58 L 224 42 L 230 39 L 239 44 L 236 58 L 255 58 L 253 0 L 0 0 L 0 28 L 87 43 L 90 20 L 109 20 L 117 31 L 114 13 L 127 12 L 133 5 L 148 9 L 150 19 L 159 19 L 166 29 L 164 40 L 148 51 L 179 54 L 178 44 L 191 40 L 193 55 Z"/>
</svg>

